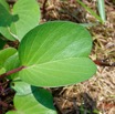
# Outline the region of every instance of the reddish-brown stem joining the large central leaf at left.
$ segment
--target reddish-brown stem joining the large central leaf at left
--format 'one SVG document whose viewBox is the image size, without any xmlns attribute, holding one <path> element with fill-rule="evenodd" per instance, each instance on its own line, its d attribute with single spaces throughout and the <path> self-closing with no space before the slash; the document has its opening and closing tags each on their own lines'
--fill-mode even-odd
<svg viewBox="0 0 115 114">
<path fill-rule="evenodd" d="M 17 73 L 17 72 L 21 71 L 21 70 L 24 69 L 24 68 L 25 68 L 25 66 L 19 66 L 19 68 L 17 68 L 17 69 L 14 69 L 14 70 L 8 71 L 7 73 L 3 73 L 3 74 L 0 75 L 0 80 L 7 77 L 8 75 L 11 75 L 11 74 L 13 74 L 13 73 Z"/>
</svg>

